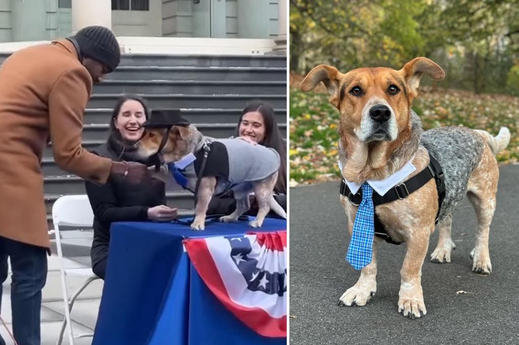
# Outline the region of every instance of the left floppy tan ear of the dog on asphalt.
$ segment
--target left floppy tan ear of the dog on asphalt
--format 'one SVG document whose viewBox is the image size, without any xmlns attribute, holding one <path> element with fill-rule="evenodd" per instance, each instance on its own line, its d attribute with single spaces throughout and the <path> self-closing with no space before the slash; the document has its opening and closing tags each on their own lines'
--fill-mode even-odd
<svg viewBox="0 0 519 345">
<path fill-rule="evenodd" d="M 310 91 L 315 89 L 319 82 L 323 82 L 326 90 L 330 94 L 330 102 L 338 107 L 339 106 L 339 84 L 340 73 L 337 68 L 328 65 L 319 65 L 313 67 L 312 70 L 306 75 L 305 79 L 301 82 L 301 90 Z"/>
</svg>

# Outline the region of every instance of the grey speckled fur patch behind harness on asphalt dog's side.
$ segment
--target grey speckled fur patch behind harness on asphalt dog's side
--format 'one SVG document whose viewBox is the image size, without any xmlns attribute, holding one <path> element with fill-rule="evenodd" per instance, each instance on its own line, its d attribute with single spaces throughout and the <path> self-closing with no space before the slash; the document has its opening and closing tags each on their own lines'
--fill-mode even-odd
<svg viewBox="0 0 519 345">
<path fill-rule="evenodd" d="M 465 198 L 469 177 L 480 162 L 486 143 L 473 130 L 455 126 L 426 131 L 420 143 L 438 160 L 445 176 L 441 221 Z"/>
</svg>

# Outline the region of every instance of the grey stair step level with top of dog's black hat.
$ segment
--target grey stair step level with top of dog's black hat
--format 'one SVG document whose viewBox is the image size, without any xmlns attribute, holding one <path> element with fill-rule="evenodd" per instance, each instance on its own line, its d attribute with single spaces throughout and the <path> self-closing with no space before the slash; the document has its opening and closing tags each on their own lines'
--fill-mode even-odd
<svg viewBox="0 0 519 345">
<path fill-rule="evenodd" d="M 112 107 L 115 103 L 112 105 Z M 197 123 L 233 123 L 237 124 L 243 108 L 240 109 L 180 109 L 182 116 L 195 125 Z M 107 124 L 112 117 L 113 108 L 87 109 L 84 116 L 85 124 Z M 286 109 L 275 109 L 276 121 L 286 123 Z"/>
</svg>

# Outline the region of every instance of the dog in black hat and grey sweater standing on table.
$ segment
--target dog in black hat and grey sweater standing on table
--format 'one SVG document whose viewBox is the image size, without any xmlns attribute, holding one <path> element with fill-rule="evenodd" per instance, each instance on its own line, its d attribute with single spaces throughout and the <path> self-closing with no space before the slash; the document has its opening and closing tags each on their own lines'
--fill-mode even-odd
<svg viewBox="0 0 519 345">
<path fill-rule="evenodd" d="M 150 164 L 168 166 L 183 188 L 195 193 L 194 230 L 203 230 L 206 212 L 213 195 L 234 192 L 236 210 L 220 218 L 236 222 L 250 208 L 249 194 L 258 202 L 252 227 L 261 227 L 270 211 L 286 219 L 272 191 L 280 166 L 276 150 L 253 145 L 242 139 L 214 139 L 203 136 L 184 119 L 179 110 L 154 110 L 138 142 L 138 154 L 151 157 Z"/>
</svg>

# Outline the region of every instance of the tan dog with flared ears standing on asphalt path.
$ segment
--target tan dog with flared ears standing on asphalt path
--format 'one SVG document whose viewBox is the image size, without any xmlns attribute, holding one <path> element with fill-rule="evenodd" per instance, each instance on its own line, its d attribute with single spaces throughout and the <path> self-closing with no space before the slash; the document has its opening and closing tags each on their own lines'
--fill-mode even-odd
<svg viewBox="0 0 519 345">
<path fill-rule="evenodd" d="M 499 170 L 495 154 L 510 140 L 507 128 L 493 137 L 484 131 L 465 127 L 444 127 L 422 133 L 419 117 L 411 109 L 420 77 L 444 78 L 443 69 L 425 57 L 417 57 L 400 70 L 358 68 L 346 74 L 319 65 L 301 84 L 303 91 L 324 83 L 330 103 L 340 113 L 339 161 L 347 181 L 362 184 L 384 180 L 411 162 L 416 170 L 403 181 L 424 170 L 433 154 L 443 167 L 446 196 L 439 212 L 439 241 L 431 255 L 433 262 L 450 262 L 452 210 L 467 195 L 477 215 L 475 247 L 471 252 L 472 270 L 489 274 L 489 225 L 496 207 Z M 401 180 L 402 181 L 402 180 Z M 340 197 L 348 216 L 351 235 L 357 206 Z M 409 318 L 427 313 L 421 287 L 421 267 L 435 228 L 438 192 L 434 179 L 402 199 L 375 207 L 381 223 L 395 241 L 405 241 L 407 251 L 402 265 L 398 310 Z M 363 306 L 377 290 L 375 238 L 372 262 L 362 268 L 356 284 L 340 296 L 339 305 Z"/>
</svg>

